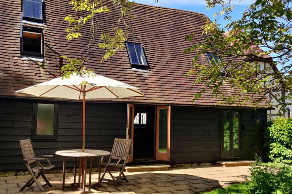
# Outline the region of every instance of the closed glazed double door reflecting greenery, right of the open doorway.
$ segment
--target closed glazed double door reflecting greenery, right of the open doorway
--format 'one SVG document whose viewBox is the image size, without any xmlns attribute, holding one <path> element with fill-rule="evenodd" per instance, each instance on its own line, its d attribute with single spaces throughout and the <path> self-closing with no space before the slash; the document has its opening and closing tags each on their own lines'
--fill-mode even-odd
<svg viewBox="0 0 292 194">
<path fill-rule="evenodd" d="M 241 114 L 224 110 L 222 117 L 222 158 L 241 157 Z"/>
</svg>

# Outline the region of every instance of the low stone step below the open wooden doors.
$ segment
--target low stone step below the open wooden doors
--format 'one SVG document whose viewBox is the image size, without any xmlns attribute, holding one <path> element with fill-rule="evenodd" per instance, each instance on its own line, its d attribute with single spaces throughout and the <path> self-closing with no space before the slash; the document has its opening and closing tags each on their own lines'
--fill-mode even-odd
<svg viewBox="0 0 292 194">
<path fill-rule="evenodd" d="M 146 171 L 162 171 L 168 170 L 170 165 L 166 164 L 150 164 L 150 165 L 134 165 L 134 166 L 126 166 L 126 172 L 146 172 Z"/>
</svg>

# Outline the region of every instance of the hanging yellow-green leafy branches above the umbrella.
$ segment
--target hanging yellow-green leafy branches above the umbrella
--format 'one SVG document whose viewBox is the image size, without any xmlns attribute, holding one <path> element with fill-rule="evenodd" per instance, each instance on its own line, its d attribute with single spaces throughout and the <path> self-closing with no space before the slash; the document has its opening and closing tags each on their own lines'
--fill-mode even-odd
<svg viewBox="0 0 292 194">
<path fill-rule="evenodd" d="M 102 57 L 107 59 L 113 56 L 118 50 L 124 48 L 124 42 L 127 39 L 127 36 L 131 32 L 130 26 L 126 23 L 125 17 L 133 19 L 132 8 L 134 2 L 129 0 L 113 0 L 109 1 L 112 4 L 119 8 L 120 17 L 116 22 L 116 27 L 111 30 L 111 32 L 105 32 L 104 27 L 100 24 L 99 14 L 110 13 L 111 10 L 109 7 L 104 5 L 105 0 L 70 0 L 69 5 L 72 6 L 72 10 L 76 12 L 76 15 L 83 15 L 83 17 L 77 17 L 75 15 L 67 15 L 65 21 L 70 27 L 66 29 L 67 36 L 66 39 L 71 41 L 82 37 L 82 30 L 87 24 L 90 26 L 91 37 L 88 40 L 88 47 L 86 56 L 83 58 L 68 58 L 67 64 L 64 65 L 61 69 L 63 77 L 68 78 L 73 73 L 76 73 L 81 76 L 86 76 L 90 74 L 91 70 L 84 68 L 88 54 L 91 51 L 91 45 L 94 43 L 98 47 L 105 50 L 105 54 Z M 97 32 L 101 33 L 100 37 L 97 37 Z M 100 42 L 100 40 L 102 42 Z"/>
</svg>

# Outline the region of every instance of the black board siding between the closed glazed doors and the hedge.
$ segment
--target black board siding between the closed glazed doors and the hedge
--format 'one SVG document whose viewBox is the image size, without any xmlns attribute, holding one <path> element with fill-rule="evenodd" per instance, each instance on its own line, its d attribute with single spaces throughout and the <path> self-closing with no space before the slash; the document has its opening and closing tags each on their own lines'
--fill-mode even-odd
<svg viewBox="0 0 292 194">
<path fill-rule="evenodd" d="M 254 115 L 259 115 L 260 124 L 257 125 Z M 245 160 L 252 160 L 255 154 L 258 154 L 256 148 L 258 148 L 260 154 L 265 157 L 264 145 L 264 128 L 267 123 L 267 111 L 266 110 L 244 110 L 242 111 L 242 156 Z"/>
</svg>

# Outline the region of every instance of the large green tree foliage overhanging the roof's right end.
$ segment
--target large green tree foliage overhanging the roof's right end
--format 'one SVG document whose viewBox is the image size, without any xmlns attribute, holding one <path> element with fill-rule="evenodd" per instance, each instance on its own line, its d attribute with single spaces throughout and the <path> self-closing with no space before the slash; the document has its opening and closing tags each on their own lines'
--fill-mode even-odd
<svg viewBox="0 0 292 194">
<path fill-rule="evenodd" d="M 276 93 L 274 97 L 279 102 L 276 106 L 286 111 L 285 106 L 290 103 L 284 103 L 284 99 L 292 97 L 291 1 L 257 0 L 239 20 L 232 20 L 232 0 L 206 1 L 208 8 L 221 6 L 222 9 L 214 14 L 213 22 L 208 20 L 201 27 L 204 41 L 197 40 L 194 33 L 186 36 L 187 41 L 194 42 L 194 46 L 185 50 L 185 54 L 194 55 L 188 75 L 195 74 L 195 83 L 204 84 L 214 97 L 228 104 L 249 103 L 257 107 L 270 92 L 285 91 L 285 96 Z M 227 20 L 228 24 L 220 26 L 220 19 Z M 221 60 L 215 65 L 200 63 L 198 59 L 205 52 L 216 53 Z M 264 58 L 272 66 L 261 69 L 256 62 L 258 58 Z M 234 90 L 232 95 L 223 92 L 227 85 Z M 205 92 L 202 89 L 200 94 Z"/>
</svg>

